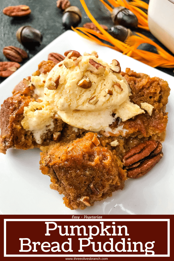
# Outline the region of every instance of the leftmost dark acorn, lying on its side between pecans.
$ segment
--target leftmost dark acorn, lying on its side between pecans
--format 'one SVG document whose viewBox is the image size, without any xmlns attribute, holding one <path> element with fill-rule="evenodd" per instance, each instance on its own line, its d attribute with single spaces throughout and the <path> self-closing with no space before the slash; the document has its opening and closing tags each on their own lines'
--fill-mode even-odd
<svg viewBox="0 0 174 261">
<path fill-rule="evenodd" d="M 27 47 L 39 46 L 43 38 L 39 30 L 31 26 L 20 27 L 16 32 L 16 37 L 19 43 Z"/>
</svg>

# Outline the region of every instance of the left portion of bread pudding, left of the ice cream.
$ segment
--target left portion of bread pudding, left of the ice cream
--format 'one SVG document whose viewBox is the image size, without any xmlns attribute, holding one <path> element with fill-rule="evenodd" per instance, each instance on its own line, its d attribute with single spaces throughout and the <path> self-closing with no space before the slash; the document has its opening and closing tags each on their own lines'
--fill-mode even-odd
<svg viewBox="0 0 174 261">
<path fill-rule="evenodd" d="M 38 68 L 37 75 L 47 74 L 55 64 L 52 61 L 42 61 Z M 13 96 L 7 98 L 1 105 L 1 136 L 0 136 L 0 151 L 6 154 L 8 148 L 29 149 L 48 145 L 56 142 L 56 136 L 53 133 L 58 133 L 64 125 L 61 119 L 54 118 L 54 128 L 41 137 L 41 144 L 38 144 L 31 131 L 27 131 L 21 125 L 23 119 L 24 107 L 32 101 L 41 102 L 38 95 L 35 94 L 35 86 L 31 84 L 31 77 L 27 77 L 20 81 L 12 91 Z M 58 137 L 58 136 L 57 136 Z M 55 140 L 54 140 L 55 139 Z"/>
</svg>

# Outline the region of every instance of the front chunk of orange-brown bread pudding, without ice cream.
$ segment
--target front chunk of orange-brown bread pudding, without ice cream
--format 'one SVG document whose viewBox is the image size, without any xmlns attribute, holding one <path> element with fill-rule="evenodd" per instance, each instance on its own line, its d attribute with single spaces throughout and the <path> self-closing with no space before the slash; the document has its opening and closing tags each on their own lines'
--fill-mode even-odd
<svg viewBox="0 0 174 261">
<path fill-rule="evenodd" d="M 93 206 L 124 187 L 122 162 L 99 144 L 97 133 L 41 149 L 40 169 L 50 176 L 50 188 L 65 195 L 64 204 L 70 209 Z"/>
</svg>

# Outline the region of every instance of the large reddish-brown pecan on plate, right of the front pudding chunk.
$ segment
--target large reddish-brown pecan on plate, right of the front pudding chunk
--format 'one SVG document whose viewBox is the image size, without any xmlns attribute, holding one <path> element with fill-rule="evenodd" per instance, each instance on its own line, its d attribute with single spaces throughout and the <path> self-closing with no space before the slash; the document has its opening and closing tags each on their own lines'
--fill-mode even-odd
<svg viewBox="0 0 174 261">
<path fill-rule="evenodd" d="M 162 158 L 162 144 L 149 140 L 133 146 L 122 158 L 127 177 L 142 177 Z"/>
</svg>

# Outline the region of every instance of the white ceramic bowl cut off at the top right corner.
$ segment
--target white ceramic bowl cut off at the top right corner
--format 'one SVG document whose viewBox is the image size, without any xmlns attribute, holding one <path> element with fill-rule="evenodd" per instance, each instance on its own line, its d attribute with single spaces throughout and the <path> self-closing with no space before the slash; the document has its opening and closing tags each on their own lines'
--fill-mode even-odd
<svg viewBox="0 0 174 261">
<path fill-rule="evenodd" d="M 151 33 L 174 54 L 174 0 L 150 0 L 148 26 Z"/>
</svg>

